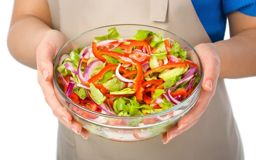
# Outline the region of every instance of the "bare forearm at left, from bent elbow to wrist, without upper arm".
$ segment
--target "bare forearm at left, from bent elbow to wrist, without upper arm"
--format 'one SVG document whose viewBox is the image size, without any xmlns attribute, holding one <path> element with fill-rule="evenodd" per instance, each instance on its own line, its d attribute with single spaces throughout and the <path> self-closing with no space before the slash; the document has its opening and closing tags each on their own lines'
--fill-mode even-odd
<svg viewBox="0 0 256 160">
<path fill-rule="evenodd" d="M 18 62 L 36 69 L 36 49 L 49 30 L 52 29 L 37 17 L 23 17 L 9 29 L 7 45 L 10 53 Z"/>
</svg>

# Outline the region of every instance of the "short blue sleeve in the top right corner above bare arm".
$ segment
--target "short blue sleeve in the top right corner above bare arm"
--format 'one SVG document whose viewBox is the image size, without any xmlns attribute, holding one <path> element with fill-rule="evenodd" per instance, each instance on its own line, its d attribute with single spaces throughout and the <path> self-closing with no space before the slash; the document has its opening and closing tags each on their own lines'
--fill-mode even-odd
<svg viewBox="0 0 256 160">
<path fill-rule="evenodd" d="M 256 0 L 222 0 L 224 14 L 239 11 L 249 16 L 256 16 Z"/>
</svg>

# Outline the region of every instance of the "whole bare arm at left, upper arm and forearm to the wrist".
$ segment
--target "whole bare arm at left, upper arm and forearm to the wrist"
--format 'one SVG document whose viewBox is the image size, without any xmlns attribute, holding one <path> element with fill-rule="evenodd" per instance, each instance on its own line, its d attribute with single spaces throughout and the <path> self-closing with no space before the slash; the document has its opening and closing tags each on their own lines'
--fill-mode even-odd
<svg viewBox="0 0 256 160">
<path fill-rule="evenodd" d="M 15 0 L 7 44 L 18 62 L 36 69 L 36 49 L 49 30 L 47 0 Z"/>
</svg>

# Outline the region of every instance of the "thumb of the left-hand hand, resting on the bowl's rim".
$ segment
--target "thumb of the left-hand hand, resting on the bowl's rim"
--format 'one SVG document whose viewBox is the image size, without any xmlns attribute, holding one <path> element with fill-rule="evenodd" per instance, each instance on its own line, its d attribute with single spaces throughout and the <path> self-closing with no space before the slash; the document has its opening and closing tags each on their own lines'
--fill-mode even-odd
<svg viewBox="0 0 256 160">
<path fill-rule="evenodd" d="M 60 32 L 51 31 L 38 45 L 36 50 L 37 67 L 45 81 L 52 80 L 53 60 L 65 42 L 65 37 Z"/>
</svg>

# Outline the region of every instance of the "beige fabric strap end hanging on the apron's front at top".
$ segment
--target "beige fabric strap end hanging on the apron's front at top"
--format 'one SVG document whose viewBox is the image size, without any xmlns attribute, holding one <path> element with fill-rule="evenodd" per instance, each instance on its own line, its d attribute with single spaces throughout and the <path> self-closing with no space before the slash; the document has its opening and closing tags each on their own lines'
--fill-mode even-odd
<svg viewBox="0 0 256 160">
<path fill-rule="evenodd" d="M 166 22 L 168 0 L 150 0 L 150 20 Z"/>
</svg>

